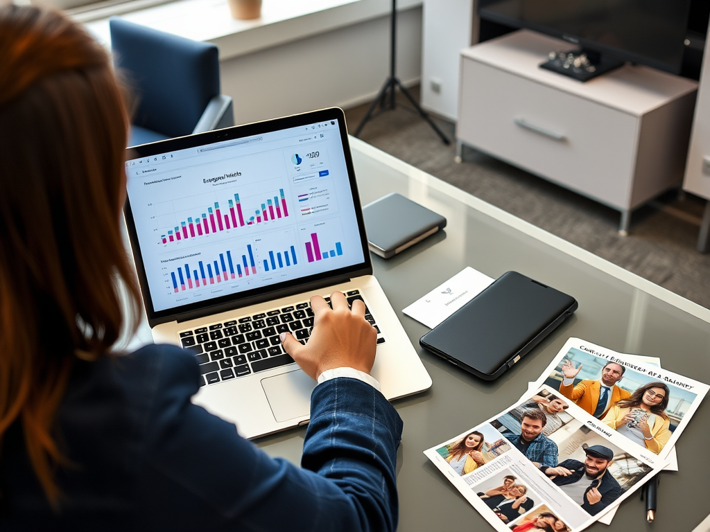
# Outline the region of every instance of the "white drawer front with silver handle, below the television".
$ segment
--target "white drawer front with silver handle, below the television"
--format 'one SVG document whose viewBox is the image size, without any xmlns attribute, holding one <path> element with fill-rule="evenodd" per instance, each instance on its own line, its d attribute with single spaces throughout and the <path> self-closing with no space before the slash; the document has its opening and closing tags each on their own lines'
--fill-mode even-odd
<svg viewBox="0 0 710 532">
<path fill-rule="evenodd" d="M 638 117 L 475 60 L 461 66 L 459 140 L 627 208 Z"/>
</svg>

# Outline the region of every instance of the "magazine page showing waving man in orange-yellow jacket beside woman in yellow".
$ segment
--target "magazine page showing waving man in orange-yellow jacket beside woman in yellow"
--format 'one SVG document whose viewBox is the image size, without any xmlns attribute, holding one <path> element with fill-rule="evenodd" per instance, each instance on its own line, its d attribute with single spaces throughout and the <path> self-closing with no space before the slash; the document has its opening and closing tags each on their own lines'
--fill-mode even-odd
<svg viewBox="0 0 710 532">
<path fill-rule="evenodd" d="M 535 384 L 555 389 L 649 458 L 674 452 L 709 388 L 579 338 L 567 340 Z"/>
</svg>

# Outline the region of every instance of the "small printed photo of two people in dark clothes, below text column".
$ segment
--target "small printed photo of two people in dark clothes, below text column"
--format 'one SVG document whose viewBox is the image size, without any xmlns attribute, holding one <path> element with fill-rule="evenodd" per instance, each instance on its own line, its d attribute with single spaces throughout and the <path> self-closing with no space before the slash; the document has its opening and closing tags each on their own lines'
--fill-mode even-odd
<svg viewBox="0 0 710 532">
<path fill-rule="evenodd" d="M 540 504 L 540 497 L 533 494 L 528 484 L 520 480 L 510 469 L 488 477 L 473 489 L 486 506 L 506 524 L 527 514 L 536 504 Z"/>
</svg>

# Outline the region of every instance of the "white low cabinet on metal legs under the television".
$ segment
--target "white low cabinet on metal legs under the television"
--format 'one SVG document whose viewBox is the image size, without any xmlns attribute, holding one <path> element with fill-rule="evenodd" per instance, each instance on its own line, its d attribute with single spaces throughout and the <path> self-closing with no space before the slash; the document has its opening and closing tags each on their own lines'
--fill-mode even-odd
<svg viewBox="0 0 710 532">
<path fill-rule="evenodd" d="M 586 83 L 542 70 L 564 41 L 518 31 L 461 52 L 466 144 L 621 211 L 683 179 L 697 82 L 626 65 Z"/>
</svg>

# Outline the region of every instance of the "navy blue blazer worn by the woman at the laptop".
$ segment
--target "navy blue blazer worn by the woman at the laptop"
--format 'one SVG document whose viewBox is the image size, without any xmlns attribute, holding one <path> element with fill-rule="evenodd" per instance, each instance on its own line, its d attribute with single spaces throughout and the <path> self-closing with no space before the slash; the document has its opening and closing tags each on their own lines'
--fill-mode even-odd
<svg viewBox="0 0 710 532">
<path fill-rule="evenodd" d="M 192 355 L 167 345 L 77 360 L 57 417 L 69 460 L 55 477 L 60 511 L 15 423 L 0 449 L 0 530 L 395 530 L 403 426 L 380 392 L 356 379 L 319 384 L 299 468 L 192 404 L 199 375 Z"/>
</svg>

